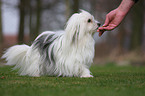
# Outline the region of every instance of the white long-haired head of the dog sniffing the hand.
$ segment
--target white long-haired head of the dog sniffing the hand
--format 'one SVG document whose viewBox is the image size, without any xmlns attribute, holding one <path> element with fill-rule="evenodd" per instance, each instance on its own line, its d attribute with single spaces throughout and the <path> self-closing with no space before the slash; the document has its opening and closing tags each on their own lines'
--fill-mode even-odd
<svg viewBox="0 0 145 96">
<path fill-rule="evenodd" d="M 97 31 L 100 23 L 87 11 L 73 14 L 67 22 L 66 33 L 69 39 L 81 39 L 85 35 L 92 35 Z"/>
</svg>

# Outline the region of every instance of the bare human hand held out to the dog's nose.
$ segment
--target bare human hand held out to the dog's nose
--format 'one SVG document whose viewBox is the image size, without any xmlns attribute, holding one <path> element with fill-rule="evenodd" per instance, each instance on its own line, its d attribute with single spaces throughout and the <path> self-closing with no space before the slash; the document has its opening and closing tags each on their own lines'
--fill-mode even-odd
<svg viewBox="0 0 145 96">
<path fill-rule="evenodd" d="M 105 31 L 110 31 L 115 29 L 125 17 L 126 12 L 122 12 L 119 8 L 109 12 L 106 15 L 105 23 L 102 27 L 99 27 L 97 32 L 101 36 Z"/>
</svg>

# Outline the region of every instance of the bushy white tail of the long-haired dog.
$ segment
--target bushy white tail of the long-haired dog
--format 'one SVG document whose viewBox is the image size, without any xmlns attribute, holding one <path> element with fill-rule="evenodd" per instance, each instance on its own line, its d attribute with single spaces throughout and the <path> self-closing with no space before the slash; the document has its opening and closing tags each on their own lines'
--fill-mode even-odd
<svg viewBox="0 0 145 96">
<path fill-rule="evenodd" d="M 2 59 L 6 59 L 6 65 L 16 65 L 15 68 L 21 68 L 26 60 L 26 53 L 30 46 L 28 45 L 15 45 L 7 49 L 2 56 Z"/>
</svg>

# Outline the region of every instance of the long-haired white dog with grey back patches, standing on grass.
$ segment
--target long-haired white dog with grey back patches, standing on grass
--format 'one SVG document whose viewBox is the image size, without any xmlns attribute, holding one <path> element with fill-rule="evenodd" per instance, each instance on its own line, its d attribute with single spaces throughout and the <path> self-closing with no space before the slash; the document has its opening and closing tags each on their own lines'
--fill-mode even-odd
<svg viewBox="0 0 145 96">
<path fill-rule="evenodd" d="M 73 14 L 64 31 L 46 31 L 31 46 L 15 45 L 2 58 L 7 65 L 15 65 L 20 75 L 93 77 L 89 67 L 93 63 L 93 34 L 99 27 L 86 12 Z"/>
</svg>

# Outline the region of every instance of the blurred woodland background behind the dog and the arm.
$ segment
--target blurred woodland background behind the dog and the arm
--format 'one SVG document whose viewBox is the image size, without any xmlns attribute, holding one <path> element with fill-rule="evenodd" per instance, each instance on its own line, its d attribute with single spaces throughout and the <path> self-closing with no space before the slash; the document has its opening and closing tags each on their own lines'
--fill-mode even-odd
<svg viewBox="0 0 145 96">
<path fill-rule="evenodd" d="M 94 15 L 101 24 L 122 0 L 0 0 L 0 56 L 15 44 L 31 45 L 43 31 L 63 30 L 79 9 Z M 145 0 L 139 0 L 113 31 L 94 38 L 94 64 L 145 65 Z M 2 61 L 1 61 L 2 62 Z"/>
</svg>

